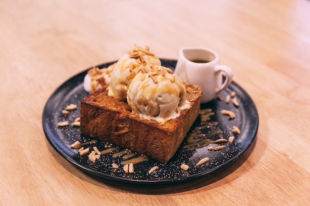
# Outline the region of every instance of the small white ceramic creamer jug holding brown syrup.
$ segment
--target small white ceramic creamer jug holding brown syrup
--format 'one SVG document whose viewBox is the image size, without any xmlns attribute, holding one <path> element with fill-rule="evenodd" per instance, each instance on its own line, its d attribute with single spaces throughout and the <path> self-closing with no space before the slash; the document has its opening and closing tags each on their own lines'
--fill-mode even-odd
<svg viewBox="0 0 310 206">
<path fill-rule="evenodd" d="M 202 87 L 202 103 L 215 98 L 233 78 L 232 69 L 220 65 L 217 53 L 204 47 L 181 48 L 174 73 L 183 82 Z M 226 77 L 224 82 L 223 75 Z"/>
</svg>

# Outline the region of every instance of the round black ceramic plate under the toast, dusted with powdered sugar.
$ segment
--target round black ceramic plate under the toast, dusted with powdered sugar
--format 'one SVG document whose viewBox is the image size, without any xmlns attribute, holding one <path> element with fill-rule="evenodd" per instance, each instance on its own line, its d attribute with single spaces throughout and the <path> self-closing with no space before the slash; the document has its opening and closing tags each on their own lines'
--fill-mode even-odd
<svg viewBox="0 0 310 206">
<path fill-rule="evenodd" d="M 176 65 L 175 60 L 161 59 L 161 62 L 163 66 L 172 70 Z M 113 62 L 98 67 L 107 67 L 111 63 Z M 87 70 L 77 74 L 53 92 L 44 108 L 42 123 L 46 137 L 52 147 L 66 160 L 91 174 L 112 180 L 135 183 L 168 183 L 189 180 L 206 175 L 232 163 L 248 149 L 256 137 L 258 112 L 255 104 L 246 91 L 235 82 L 232 82 L 220 95 L 225 97 L 231 91 L 236 91 L 240 106 L 237 108 L 231 101 L 226 104 L 224 100 L 220 101 L 218 99 L 202 104 L 202 110 L 210 108 L 214 115 L 209 116 L 210 120 L 204 118 L 202 120 L 201 117 L 197 119 L 191 130 L 196 132 L 197 135 L 194 135 L 191 139 L 185 138 L 174 157 L 167 164 L 149 159 L 147 162 L 135 164 L 134 173 L 125 173 L 121 165 L 122 157 L 113 157 L 114 153 L 123 150 L 123 148 L 118 147 L 117 150 L 102 155 L 99 160 L 93 163 L 88 160 L 88 155 L 80 156 L 77 149 L 70 148 L 70 145 L 77 140 L 87 142 L 92 138 L 82 135 L 79 128 L 71 126 L 71 124 L 65 127 L 57 126 L 58 122 L 67 121 L 72 123 L 75 118 L 80 116 L 80 101 L 87 95 L 87 92 L 83 89 L 83 79 L 86 73 Z M 64 116 L 61 111 L 71 103 L 76 104 L 78 108 Z M 222 115 L 221 110 L 235 112 L 236 118 L 230 119 L 229 116 Z M 237 126 L 241 133 L 233 133 L 233 126 Z M 212 133 L 218 134 L 212 135 Z M 213 143 L 216 139 L 228 139 L 230 136 L 235 137 L 233 142 Z M 190 144 L 192 144 L 192 147 L 190 147 Z M 214 148 L 219 145 L 225 145 L 225 147 L 217 151 L 208 150 L 210 146 Z M 101 151 L 111 147 L 101 141 L 85 147 L 88 146 L 91 151 L 93 146 L 96 146 Z M 196 166 L 200 159 L 206 157 L 209 160 L 205 164 Z M 112 163 L 116 163 L 120 167 L 113 169 Z M 180 167 L 181 164 L 189 165 L 189 168 L 184 170 Z M 149 170 L 155 165 L 158 166 L 158 169 L 149 174 Z"/>
</svg>

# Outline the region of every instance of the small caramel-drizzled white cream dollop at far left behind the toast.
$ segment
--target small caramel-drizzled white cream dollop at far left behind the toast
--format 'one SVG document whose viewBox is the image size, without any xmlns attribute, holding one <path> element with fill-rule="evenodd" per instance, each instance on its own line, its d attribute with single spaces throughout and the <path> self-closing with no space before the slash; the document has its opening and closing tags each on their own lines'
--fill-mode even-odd
<svg viewBox="0 0 310 206">
<path fill-rule="evenodd" d="M 110 82 L 110 76 L 114 64 L 108 66 L 107 68 L 99 69 L 98 67 L 94 67 L 88 70 L 87 75 L 84 77 L 83 86 L 84 89 L 91 93 L 96 89 L 102 87 L 105 84 Z"/>
</svg>

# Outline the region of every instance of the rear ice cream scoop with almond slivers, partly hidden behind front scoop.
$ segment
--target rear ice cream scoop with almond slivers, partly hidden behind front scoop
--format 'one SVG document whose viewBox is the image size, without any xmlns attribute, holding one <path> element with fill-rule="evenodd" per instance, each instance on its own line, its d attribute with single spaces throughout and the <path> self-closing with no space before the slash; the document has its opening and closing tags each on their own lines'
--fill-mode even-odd
<svg viewBox="0 0 310 206">
<path fill-rule="evenodd" d="M 146 64 L 161 65 L 160 60 L 149 48 L 137 46 L 121 57 L 111 74 L 108 95 L 121 101 L 127 97 L 128 87 L 137 73 L 139 66 Z"/>
</svg>

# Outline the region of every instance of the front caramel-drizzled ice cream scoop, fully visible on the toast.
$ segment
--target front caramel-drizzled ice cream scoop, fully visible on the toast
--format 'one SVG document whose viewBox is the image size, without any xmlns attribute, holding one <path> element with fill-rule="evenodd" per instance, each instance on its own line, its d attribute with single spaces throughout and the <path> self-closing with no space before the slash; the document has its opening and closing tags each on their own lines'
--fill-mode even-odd
<svg viewBox="0 0 310 206">
<path fill-rule="evenodd" d="M 189 107 L 185 85 L 170 69 L 154 66 L 152 72 L 144 71 L 140 69 L 128 88 L 127 102 L 133 114 L 165 123 Z"/>
</svg>

